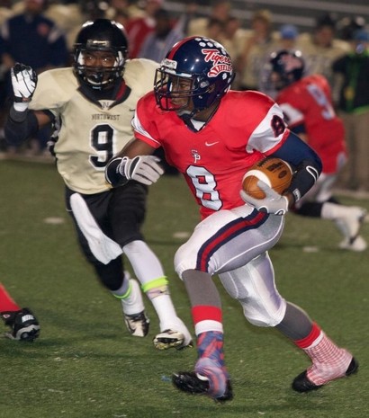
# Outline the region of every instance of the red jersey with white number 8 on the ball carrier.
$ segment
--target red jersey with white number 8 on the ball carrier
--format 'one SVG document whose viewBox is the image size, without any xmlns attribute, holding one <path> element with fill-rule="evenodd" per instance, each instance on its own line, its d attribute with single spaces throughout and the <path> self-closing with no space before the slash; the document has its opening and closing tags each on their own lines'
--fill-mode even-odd
<svg viewBox="0 0 369 418">
<path fill-rule="evenodd" d="M 175 111 L 161 111 L 154 93 L 142 97 L 132 120 L 135 137 L 163 147 L 166 161 L 184 174 L 202 218 L 244 205 L 242 178 L 281 147 L 290 131 L 279 106 L 263 93 L 229 91 L 206 125 L 193 131 Z"/>
</svg>

